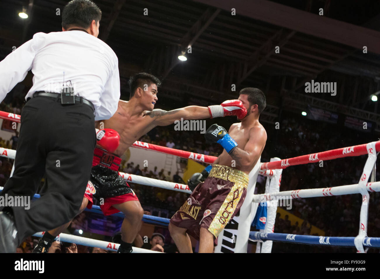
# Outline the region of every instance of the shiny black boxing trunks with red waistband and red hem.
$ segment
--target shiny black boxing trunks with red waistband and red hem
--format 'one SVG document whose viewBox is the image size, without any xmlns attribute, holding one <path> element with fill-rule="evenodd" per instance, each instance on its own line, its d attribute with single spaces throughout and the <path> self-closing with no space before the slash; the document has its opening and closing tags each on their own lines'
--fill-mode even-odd
<svg viewBox="0 0 380 279">
<path fill-rule="evenodd" d="M 112 206 L 114 204 L 139 200 L 128 183 L 119 175 L 120 162 L 119 156 L 95 147 L 91 177 L 84 193 L 84 197 L 89 200 L 87 208 L 92 208 L 92 196 L 99 201 L 103 199 L 100 209 L 106 216 L 119 212 Z"/>
</svg>

